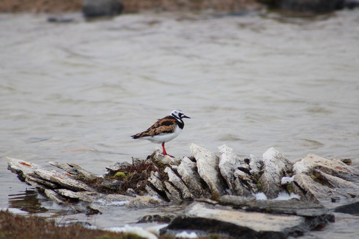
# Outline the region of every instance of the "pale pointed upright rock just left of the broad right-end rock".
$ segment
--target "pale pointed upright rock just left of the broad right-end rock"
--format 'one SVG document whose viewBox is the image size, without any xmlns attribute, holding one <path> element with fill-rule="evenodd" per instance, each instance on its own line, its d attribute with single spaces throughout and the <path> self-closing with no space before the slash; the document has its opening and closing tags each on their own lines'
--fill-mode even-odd
<svg viewBox="0 0 359 239">
<path fill-rule="evenodd" d="M 261 191 L 268 199 L 274 199 L 281 190 L 281 178 L 285 176 L 285 172 L 291 171 L 293 163 L 274 148 L 263 154 L 263 163 L 263 174 L 259 178 Z"/>
</svg>

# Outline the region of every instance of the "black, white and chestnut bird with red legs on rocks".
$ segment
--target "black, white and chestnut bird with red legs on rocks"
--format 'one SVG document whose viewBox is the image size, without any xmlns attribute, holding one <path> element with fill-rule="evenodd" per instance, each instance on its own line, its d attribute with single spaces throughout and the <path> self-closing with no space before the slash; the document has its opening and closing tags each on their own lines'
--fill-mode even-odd
<svg viewBox="0 0 359 239">
<path fill-rule="evenodd" d="M 168 155 L 174 158 L 166 152 L 164 143 L 176 138 L 181 133 L 183 126 L 185 125 L 182 120 L 183 118 L 191 119 L 183 114 L 182 110 L 173 110 L 170 115 L 159 119 L 144 132 L 132 135 L 131 137 L 132 139 L 147 139 L 152 143 L 162 144 L 163 155 Z"/>
</svg>

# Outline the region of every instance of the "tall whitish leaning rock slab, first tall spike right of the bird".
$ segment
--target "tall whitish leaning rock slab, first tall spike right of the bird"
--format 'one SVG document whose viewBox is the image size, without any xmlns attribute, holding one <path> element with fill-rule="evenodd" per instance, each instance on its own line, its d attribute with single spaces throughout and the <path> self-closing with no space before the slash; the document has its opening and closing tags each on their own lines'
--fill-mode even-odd
<svg viewBox="0 0 359 239">
<path fill-rule="evenodd" d="M 196 144 L 191 144 L 190 149 L 196 158 L 198 173 L 209 186 L 211 193 L 218 193 L 220 196 L 227 194 L 225 191 L 227 183 L 218 167 L 219 158 Z"/>
</svg>

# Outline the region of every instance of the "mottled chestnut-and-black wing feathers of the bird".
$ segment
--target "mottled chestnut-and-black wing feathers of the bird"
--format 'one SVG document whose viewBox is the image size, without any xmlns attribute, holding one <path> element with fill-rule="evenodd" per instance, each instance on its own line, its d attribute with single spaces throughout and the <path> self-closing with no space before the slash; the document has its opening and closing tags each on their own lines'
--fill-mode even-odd
<svg viewBox="0 0 359 239">
<path fill-rule="evenodd" d="M 155 136 L 160 134 L 168 134 L 174 132 L 176 129 L 176 119 L 173 116 L 166 116 L 156 123 L 154 123 L 150 128 L 145 130 L 144 132 L 132 135 L 134 139 L 146 137 L 146 136 Z"/>
</svg>

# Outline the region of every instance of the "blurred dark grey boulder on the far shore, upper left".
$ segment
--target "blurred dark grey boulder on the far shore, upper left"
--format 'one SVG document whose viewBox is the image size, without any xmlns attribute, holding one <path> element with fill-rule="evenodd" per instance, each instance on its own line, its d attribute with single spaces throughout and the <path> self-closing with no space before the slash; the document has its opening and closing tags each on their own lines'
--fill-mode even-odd
<svg viewBox="0 0 359 239">
<path fill-rule="evenodd" d="M 123 4 L 119 0 L 84 0 L 82 5 L 85 17 L 115 16 L 122 10 Z"/>
</svg>

